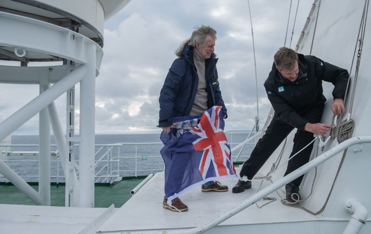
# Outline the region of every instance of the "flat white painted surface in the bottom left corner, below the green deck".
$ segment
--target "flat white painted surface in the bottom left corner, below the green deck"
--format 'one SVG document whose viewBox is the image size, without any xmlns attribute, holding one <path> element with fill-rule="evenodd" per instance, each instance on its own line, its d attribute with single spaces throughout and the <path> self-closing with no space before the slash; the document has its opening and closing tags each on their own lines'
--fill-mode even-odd
<svg viewBox="0 0 371 234">
<path fill-rule="evenodd" d="M 116 209 L 0 204 L 0 211 L 4 234 L 79 234 L 97 218 L 110 215 L 104 214 L 106 211 L 114 213 Z"/>
</svg>

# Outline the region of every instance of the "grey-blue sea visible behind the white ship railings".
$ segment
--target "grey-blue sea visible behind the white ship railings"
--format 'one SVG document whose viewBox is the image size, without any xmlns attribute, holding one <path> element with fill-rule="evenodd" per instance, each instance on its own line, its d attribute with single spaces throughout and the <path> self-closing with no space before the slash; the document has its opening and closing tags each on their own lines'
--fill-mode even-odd
<svg viewBox="0 0 371 234">
<path fill-rule="evenodd" d="M 248 132 L 227 133 L 231 148 L 244 141 Z M 164 161 L 160 155 L 163 144 L 160 134 L 111 134 L 95 136 L 95 159 L 96 182 L 110 182 L 115 177 L 146 176 L 164 170 Z M 97 146 L 100 144 L 121 143 L 122 146 Z M 133 143 L 141 143 L 135 145 Z M 148 143 L 148 144 L 143 144 Z M 157 144 L 155 144 L 157 143 Z M 14 135 L 11 137 L 12 147 L 7 151 L 13 152 L 5 159 L 6 164 L 27 182 L 38 181 L 39 163 L 38 156 L 30 155 L 30 152 L 38 152 L 39 136 L 37 135 Z M 51 136 L 51 145 L 54 145 L 54 137 Z M 16 146 L 25 145 L 25 146 Z M 250 155 L 253 145 L 244 148 L 242 156 L 238 161 L 245 161 Z M 51 146 L 51 151 L 56 151 L 56 146 Z M 4 149 L 1 149 L 4 151 Z M 27 153 L 26 153 L 27 152 Z M 20 155 L 22 153 L 22 155 Z M 74 147 L 75 162 L 79 164 L 79 147 Z M 238 151 L 235 152 L 237 155 Z M 233 156 L 233 155 L 232 155 Z M 2 155 L 4 157 L 4 154 Z M 4 159 L 4 158 L 3 158 Z M 107 163 L 110 159 L 111 162 Z M 119 162 L 118 162 L 119 160 Z M 51 181 L 64 182 L 62 164 L 58 162 L 57 156 L 51 156 Z M 100 177 L 102 176 L 102 177 Z M 107 178 L 107 176 L 110 176 Z M 0 177 L 0 182 L 6 181 Z"/>
</svg>

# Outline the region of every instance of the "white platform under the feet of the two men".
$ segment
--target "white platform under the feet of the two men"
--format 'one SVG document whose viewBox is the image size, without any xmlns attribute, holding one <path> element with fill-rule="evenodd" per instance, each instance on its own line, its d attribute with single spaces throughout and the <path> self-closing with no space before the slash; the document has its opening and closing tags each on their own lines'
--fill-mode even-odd
<svg viewBox="0 0 371 234">
<path fill-rule="evenodd" d="M 253 183 L 253 187 L 244 193 L 232 194 L 231 188 L 237 179 L 226 179 L 222 184 L 229 190 L 223 193 L 201 192 L 201 188 L 181 195 L 181 200 L 189 210 L 184 214 L 172 212 L 162 207 L 164 197 L 164 174 L 157 173 L 148 181 L 136 195 L 130 198 L 118 211 L 115 212 L 103 225 L 98 228 L 100 233 L 130 233 L 141 230 L 187 229 L 199 227 L 218 215 L 221 215 L 238 205 L 244 199 L 255 194 L 260 183 Z M 265 183 L 262 188 L 268 186 Z M 244 211 L 227 219 L 219 226 L 259 225 L 264 223 L 295 223 L 318 220 L 320 217 L 310 215 L 304 210 L 285 206 L 277 193 L 269 195 L 277 200 L 262 208 L 266 201 L 259 201 Z M 291 225 L 295 228 L 295 225 Z M 283 225 L 281 233 L 289 227 Z M 277 233 L 280 233 L 279 230 Z M 160 233 L 160 232 L 159 232 Z"/>
</svg>

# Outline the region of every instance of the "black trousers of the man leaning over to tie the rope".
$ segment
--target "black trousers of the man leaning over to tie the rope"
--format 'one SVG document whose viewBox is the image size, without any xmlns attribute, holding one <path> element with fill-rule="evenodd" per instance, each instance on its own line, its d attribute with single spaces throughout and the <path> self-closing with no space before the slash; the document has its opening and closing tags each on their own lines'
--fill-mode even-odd
<svg viewBox="0 0 371 234">
<path fill-rule="evenodd" d="M 320 105 L 310 109 L 307 113 L 303 114 L 302 117 L 305 118 L 309 123 L 319 123 L 321 121 L 322 113 L 323 105 Z M 240 176 L 247 176 L 248 179 L 252 179 L 293 129 L 294 127 L 274 116 L 267 128 L 265 135 L 256 143 L 256 146 L 252 150 L 250 157 L 242 166 Z M 313 133 L 297 130 L 293 140 L 294 145 L 292 147 L 290 157 L 308 145 L 313 138 Z M 313 149 L 313 143 L 311 143 L 302 152 L 297 154 L 294 158 L 289 160 L 285 176 L 309 162 L 310 153 Z M 291 182 L 299 186 L 303 180 L 303 177 L 304 175 L 294 179 Z"/>
</svg>

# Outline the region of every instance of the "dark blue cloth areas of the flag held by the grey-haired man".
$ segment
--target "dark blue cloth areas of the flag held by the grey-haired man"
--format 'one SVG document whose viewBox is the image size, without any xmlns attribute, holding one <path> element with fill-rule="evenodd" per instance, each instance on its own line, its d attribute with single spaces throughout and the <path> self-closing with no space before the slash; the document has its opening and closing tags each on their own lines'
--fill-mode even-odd
<svg viewBox="0 0 371 234">
<path fill-rule="evenodd" d="M 219 107 L 220 108 L 220 107 Z M 212 112 L 217 109 L 210 108 L 206 112 L 211 116 Z M 206 113 L 205 112 L 205 113 Z M 219 121 L 219 130 L 224 129 L 224 119 L 223 112 L 217 112 Z M 185 121 L 192 117 L 175 117 L 173 118 L 174 123 Z M 202 118 L 205 118 L 203 115 Z M 213 122 L 212 122 L 213 123 Z M 200 129 L 200 123 L 194 129 Z M 211 130 L 213 131 L 213 130 Z M 205 135 L 206 136 L 206 135 Z M 208 135 L 210 136 L 210 135 Z M 229 151 L 229 157 L 226 162 L 227 175 L 221 176 L 215 171 L 215 166 L 213 163 L 206 165 L 206 176 L 203 177 L 200 173 L 200 165 L 204 151 L 195 151 L 193 143 L 200 137 L 197 133 L 193 131 L 188 131 L 180 137 L 176 137 L 176 129 L 171 128 L 170 133 L 163 131 L 161 133 L 161 140 L 164 143 L 164 147 L 161 149 L 160 153 L 165 162 L 165 198 L 173 199 L 183 193 L 187 188 L 197 184 L 203 184 L 207 181 L 214 180 L 216 178 L 222 179 L 227 177 L 236 177 L 232 157 L 230 154 L 230 148 L 227 142 L 222 141 L 223 147 L 227 147 Z M 207 138 L 207 137 L 206 137 Z M 215 139 L 217 140 L 217 139 Z"/>
</svg>

